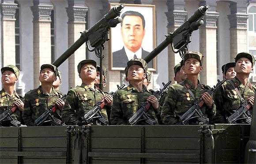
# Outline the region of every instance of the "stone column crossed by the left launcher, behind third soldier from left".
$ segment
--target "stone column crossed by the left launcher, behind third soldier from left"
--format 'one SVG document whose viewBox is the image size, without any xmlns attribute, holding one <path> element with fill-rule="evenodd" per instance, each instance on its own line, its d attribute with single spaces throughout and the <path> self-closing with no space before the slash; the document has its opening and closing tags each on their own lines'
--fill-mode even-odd
<svg viewBox="0 0 256 164">
<path fill-rule="evenodd" d="M 80 32 L 86 28 L 86 17 L 88 7 L 85 7 L 84 0 L 68 0 L 66 7 L 68 14 L 68 47 L 73 45 L 81 36 Z M 83 44 L 75 53 L 68 58 L 68 85 L 75 87 L 81 85 L 77 65 L 86 59 L 86 45 Z"/>
</svg>

